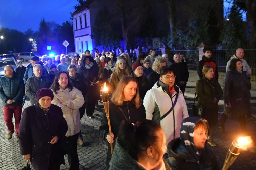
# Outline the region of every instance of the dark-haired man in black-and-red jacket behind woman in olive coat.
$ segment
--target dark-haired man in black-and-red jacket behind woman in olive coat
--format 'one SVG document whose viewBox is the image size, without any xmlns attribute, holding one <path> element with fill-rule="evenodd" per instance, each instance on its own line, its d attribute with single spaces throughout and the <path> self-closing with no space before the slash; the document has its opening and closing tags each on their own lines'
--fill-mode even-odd
<svg viewBox="0 0 256 170">
<path fill-rule="evenodd" d="M 204 47 L 202 60 L 200 60 L 197 65 L 197 74 L 200 79 L 203 78 L 203 66 L 205 65 L 213 66 L 213 71 L 214 71 L 213 78 L 218 81 L 219 79 L 218 66 L 212 58 L 212 49 L 210 47 Z"/>
</svg>

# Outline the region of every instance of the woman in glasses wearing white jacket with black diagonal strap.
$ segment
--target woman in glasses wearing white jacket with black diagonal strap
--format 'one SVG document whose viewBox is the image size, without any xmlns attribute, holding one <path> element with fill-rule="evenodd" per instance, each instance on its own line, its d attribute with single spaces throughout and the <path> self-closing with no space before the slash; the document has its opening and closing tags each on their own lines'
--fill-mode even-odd
<svg viewBox="0 0 256 170">
<path fill-rule="evenodd" d="M 167 115 L 158 122 L 165 132 L 167 143 L 180 137 L 180 125 L 182 120 L 188 117 L 188 110 L 182 92 L 175 84 L 172 68 L 161 67 L 159 81 L 147 91 L 143 105 L 148 120 L 157 121 L 163 115 Z"/>
</svg>

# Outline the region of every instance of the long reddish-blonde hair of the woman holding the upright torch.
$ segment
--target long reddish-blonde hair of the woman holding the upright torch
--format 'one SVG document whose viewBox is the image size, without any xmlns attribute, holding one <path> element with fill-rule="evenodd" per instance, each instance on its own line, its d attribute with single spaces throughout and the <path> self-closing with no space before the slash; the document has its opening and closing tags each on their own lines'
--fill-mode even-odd
<svg viewBox="0 0 256 170">
<path fill-rule="evenodd" d="M 123 76 L 120 82 L 118 83 L 115 92 L 113 93 L 113 96 L 111 98 L 111 101 L 116 105 L 116 106 L 122 106 L 124 103 L 124 88 L 129 82 L 136 82 L 137 84 L 137 89 L 136 89 L 136 94 L 131 100 L 134 104 L 135 107 L 138 109 L 141 104 L 141 98 L 139 96 L 139 87 L 138 87 L 138 82 L 135 77 L 130 77 L 130 76 Z"/>
</svg>

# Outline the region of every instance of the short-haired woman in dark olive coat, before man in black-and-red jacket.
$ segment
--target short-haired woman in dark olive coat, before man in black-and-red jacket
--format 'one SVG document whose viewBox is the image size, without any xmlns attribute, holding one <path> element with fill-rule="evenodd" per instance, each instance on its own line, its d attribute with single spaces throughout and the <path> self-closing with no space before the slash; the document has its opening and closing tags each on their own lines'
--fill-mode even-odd
<svg viewBox="0 0 256 170">
<path fill-rule="evenodd" d="M 212 136 L 218 123 L 218 102 L 222 97 L 221 85 L 213 78 L 213 66 L 203 66 L 203 78 L 196 83 L 196 93 L 198 96 L 197 104 L 203 106 L 202 118 L 206 119 L 210 128 L 210 137 L 208 143 L 216 146 Z"/>
</svg>

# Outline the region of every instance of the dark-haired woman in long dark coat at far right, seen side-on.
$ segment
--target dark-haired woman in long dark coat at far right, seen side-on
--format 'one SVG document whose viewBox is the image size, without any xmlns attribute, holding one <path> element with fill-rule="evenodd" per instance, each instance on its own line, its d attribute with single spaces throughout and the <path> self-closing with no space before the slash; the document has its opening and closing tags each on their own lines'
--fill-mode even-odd
<svg viewBox="0 0 256 170">
<path fill-rule="evenodd" d="M 224 114 L 221 118 L 220 129 L 225 132 L 225 122 L 228 116 L 238 120 L 241 130 L 246 131 L 245 116 L 251 112 L 251 84 L 243 71 L 241 60 L 232 59 L 224 78 Z"/>
</svg>

